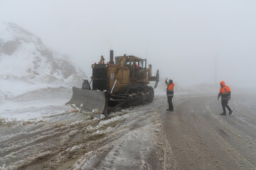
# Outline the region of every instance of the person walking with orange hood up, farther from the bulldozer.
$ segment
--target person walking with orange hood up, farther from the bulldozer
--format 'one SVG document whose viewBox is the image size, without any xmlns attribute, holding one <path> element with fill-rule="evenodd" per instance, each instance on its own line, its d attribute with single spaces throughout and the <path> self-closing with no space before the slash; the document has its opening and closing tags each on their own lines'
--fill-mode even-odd
<svg viewBox="0 0 256 170">
<path fill-rule="evenodd" d="M 225 85 L 225 81 L 220 81 L 220 93 L 218 94 L 218 99 L 221 96 L 221 105 L 223 107 L 223 113 L 220 115 L 226 115 L 226 110 L 225 108 L 228 108 L 229 114 L 232 114 L 232 110 L 230 106 L 228 106 L 228 101 L 231 98 L 231 90 L 229 86 Z"/>
</svg>

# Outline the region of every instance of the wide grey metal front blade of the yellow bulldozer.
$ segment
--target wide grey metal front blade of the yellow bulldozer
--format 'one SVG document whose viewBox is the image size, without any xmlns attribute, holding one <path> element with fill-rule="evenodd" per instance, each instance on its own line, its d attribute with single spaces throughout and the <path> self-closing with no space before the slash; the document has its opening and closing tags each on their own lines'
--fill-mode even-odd
<svg viewBox="0 0 256 170">
<path fill-rule="evenodd" d="M 92 112 L 95 109 L 100 111 L 99 114 L 107 113 L 107 94 L 103 91 L 95 91 L 89 89 L 72 88 L 73 96 L 68 101 L 68 105 L 75 104 L 76 107 L 81 108 L 82 111 Z"/>
</svg>

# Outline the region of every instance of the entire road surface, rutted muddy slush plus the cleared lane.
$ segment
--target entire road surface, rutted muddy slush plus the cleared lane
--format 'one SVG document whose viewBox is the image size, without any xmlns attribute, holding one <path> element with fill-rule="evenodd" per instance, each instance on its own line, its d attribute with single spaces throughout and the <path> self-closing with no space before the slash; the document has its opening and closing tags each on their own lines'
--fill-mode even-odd
<svg viewBox="0 0 256 170">
<path fill-rule="evenodd" d="M 101 121 L 66 106 L 1 120 L 0 169 L 256 169 L 255 97 L 233 97 L 226 116 L 216 96 L 176 96 L 173 113 L 166 106 L 156 96 Z"/>
</svg>

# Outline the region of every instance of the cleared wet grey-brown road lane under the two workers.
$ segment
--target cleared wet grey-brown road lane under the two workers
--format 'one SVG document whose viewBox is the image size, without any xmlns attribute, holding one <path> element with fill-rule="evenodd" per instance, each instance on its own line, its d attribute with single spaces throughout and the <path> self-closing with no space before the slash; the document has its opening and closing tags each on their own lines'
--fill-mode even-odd
<svg viewBox="0 0 256 170">
<path fill-rule="evenodd" d="M 256 169 L 256 98 L 234 96 L 232 115 L 216 96 L 175 102 L 161 120 L 179 169 Z"/>
</svg>

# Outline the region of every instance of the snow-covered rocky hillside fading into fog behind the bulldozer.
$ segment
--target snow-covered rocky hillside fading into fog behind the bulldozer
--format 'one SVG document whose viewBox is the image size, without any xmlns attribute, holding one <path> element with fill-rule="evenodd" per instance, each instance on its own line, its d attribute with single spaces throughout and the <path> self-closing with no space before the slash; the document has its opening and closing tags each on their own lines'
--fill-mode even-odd
<svg viewBox="0 0 256 170">
<path fill-rule="evenodd" d="M 14 23 L 0 23 L 0 96 L 81 86 L 85 77 L 68 57 L 48 49 L 41 38 Z"/>
</svg>

